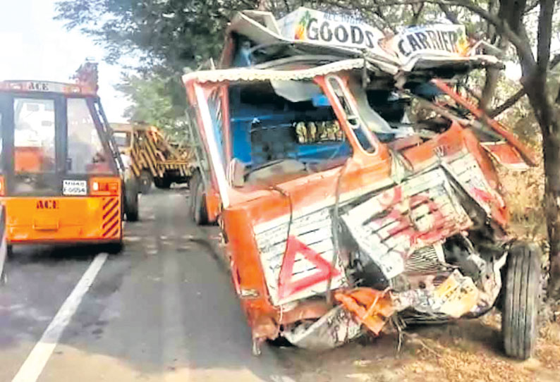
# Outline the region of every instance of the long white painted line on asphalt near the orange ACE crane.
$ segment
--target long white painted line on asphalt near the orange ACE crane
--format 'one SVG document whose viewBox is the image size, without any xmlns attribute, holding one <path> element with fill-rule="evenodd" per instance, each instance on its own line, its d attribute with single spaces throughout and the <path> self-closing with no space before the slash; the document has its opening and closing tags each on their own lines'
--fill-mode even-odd
<svg viewBox="0 0 560 382">
<path fill-rule="evenodd" d="M 85 271 L 80 281 L 78 281 L 78 284 L 74 287 L 74 290 L 62 304 L 59 312 L 56 313 L 54 319 L 49 326 L 47 326 L 39 342 L 35 344 L 28 358 L 25 359 L 25 362 L 21 365 L 18 374 L 13 377 L 12 382 L 37 381 L 49 357 L 51 357 L 54 347 L 56 347 L 56 344 L 59 342 L 64 328 L 66 328 L 76 309 L 78 309 L 85 293 L 90 289 L 99 269 L 101 269 L 106 259 L 106 253 L 100 253 L 93 259 L 87 271 Z"/>
</svg>

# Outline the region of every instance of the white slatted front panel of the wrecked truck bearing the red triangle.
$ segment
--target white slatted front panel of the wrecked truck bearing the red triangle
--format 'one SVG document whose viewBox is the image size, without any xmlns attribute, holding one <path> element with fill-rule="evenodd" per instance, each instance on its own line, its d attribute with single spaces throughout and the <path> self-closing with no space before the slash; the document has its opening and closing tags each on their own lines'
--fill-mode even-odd
<svg viewBox="0 0 560 382">
<path fill-rule="evenodd" d="M 257 227 L 255 230 L 258 232 Z M 330 269 L 334 246 L 329 209 L 293 219 L 290 226 L 293 245 L 289 248 L 286 247 L 287 236 L 288 223 L 255 235 L 264 278 L 274 305 L 326 292 L 329 273 L 332 275 L 331 289 L 347 285 L 341 264 L 337 262 L 334 269 Z M 324 269 L 324 264 L 329 268 Z"/>
</svg>

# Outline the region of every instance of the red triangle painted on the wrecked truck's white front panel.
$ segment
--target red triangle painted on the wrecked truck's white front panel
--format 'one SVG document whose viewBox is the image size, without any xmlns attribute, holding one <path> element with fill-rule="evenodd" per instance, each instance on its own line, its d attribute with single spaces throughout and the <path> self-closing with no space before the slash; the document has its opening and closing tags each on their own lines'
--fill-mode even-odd
<svg viewBox="0 0 560 382">
<path fill-rule="evenodd" d="M 301 278 L 298 281 L 291 281 L 293 273 L 293 263 L 296 261 L 296 254 L 302 254 L 305 259 L 311 261 L 316 267 L 317 272 L 312 275 Z M 300 290 L 309 288 L 311 285 L 320 283 L 329 278 L 329 275 L 339 276 L 338 269 L 332 269 L 331 264 L 323 259 L 317 252 L 300 242 L 296 236 L 289 236 L 287 240 L 286 254 L 282 261 L 282 268 L 278 279 L 278 297 L 283 299 L 289 295 L 293 295 Z"/>
</svg>

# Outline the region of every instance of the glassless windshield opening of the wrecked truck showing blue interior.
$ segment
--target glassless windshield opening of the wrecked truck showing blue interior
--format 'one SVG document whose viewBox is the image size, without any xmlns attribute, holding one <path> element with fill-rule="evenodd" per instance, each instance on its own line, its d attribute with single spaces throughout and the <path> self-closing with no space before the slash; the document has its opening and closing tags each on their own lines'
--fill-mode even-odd
<svg viewBox="0 0 560 382">
<path fill-rule="evenodd" d="M 233 156 L 255 171 L 277 161 L 329 168 L 351 148 L 321 88 L 312 81 L 271 81 L 230 90 Z"/>
</svg>

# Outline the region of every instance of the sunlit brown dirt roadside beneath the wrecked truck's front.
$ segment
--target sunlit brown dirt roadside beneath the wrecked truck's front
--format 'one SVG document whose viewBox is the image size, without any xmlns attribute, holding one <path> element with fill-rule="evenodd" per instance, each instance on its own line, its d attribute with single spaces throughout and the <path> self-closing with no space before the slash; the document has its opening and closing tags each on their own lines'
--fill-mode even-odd
<svg viewBox="0 0 560 382">
<path fill-rule="evenodd" d="M 396 333 L 364 338 L 321 355 L 293 347 L 276 351 L 292 362 L 291 376 L 301 382 L 560 380 L 560 322 L 542 325 L 535 356 L 523 362 L 504 355 L 500 326 L 500 313 L 492 311 L 480 319 L 408 328 L 400 351 Z M 299 357 L 287 357 L 293 352 Z"/>
</svg>

